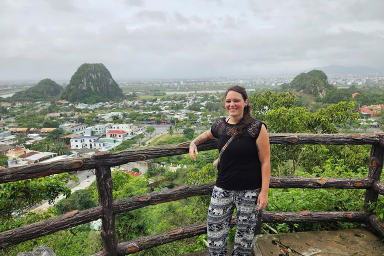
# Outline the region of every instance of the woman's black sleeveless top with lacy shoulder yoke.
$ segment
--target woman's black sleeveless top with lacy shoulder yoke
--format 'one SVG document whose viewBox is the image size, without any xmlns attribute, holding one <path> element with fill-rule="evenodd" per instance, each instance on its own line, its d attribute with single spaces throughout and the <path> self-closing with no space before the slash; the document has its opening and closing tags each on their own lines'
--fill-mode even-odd
<svg viewBox="0 0 384 256">
<path fill-rule="evenodd" d="M 238 138 L 233 139 L 225 148 L 218 166 L 216 186 L 227 190 L 257 189 L 261 187 L 261 164 L 258 158 L 256 139 L 261 125 L 257 119 Z M 265 125 L 265 124 L 264 124 Z M 218 119 L 210 128 L 212 135 L 218 139 L 217 148 L 230 138 L 229 129 L 234 124 Z"/>
</svg>

